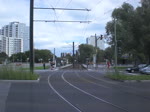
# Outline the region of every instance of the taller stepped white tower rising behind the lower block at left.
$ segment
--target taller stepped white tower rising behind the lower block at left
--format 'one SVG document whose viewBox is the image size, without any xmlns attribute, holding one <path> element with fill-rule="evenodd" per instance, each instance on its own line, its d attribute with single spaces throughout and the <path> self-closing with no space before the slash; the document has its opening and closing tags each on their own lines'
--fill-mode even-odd
<svg viewBox="0 0 150 112">
<path fill-rule="evenodd" d="M 0 30 L 0 34 L 9 38 L 22 38 L 23 39 L 23 52 L 29 50 L 29 27 L 24 23 L 10 22 Z M 13 51 L 14 52 L 14 51 Z"/>
</svg>

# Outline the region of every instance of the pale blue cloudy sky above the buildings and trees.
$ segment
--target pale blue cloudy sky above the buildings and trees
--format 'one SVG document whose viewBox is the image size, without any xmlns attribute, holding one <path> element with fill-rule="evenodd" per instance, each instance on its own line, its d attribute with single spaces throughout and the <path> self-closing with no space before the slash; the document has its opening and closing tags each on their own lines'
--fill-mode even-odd
<svg viewBox="0 0 150 112">
<path fill-rule="evenodd" d="M 86 38 L 105 34 L 105 26 L 111 20 L 111 12 L 123 2 L 139 6 L 140 0 L 34 0 L 34 7 L 91 9 L 91 11 L 34 10 L 34 20 L 92 21 L 91 23 L 34 22 L 34 47 L 56 48 L 61 52 L 72 52 Z M 0 0 L 0 28 L 9 22 L 19 21 L 29 26 L 30 0 Z"/>
</svg>

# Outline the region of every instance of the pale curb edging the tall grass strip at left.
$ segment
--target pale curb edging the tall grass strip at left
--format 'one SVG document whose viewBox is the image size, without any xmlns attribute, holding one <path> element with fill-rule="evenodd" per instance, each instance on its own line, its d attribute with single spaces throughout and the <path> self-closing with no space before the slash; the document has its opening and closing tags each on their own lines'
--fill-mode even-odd
<svg viewBox="0 0 150 112">
<path fill-rule="evenodd" d="M 30 82 L 34 82 L 34 83 L 38 83 L 40 81 L 40 78 L 38 78 L 37 80 L 0 80 L 0 82 L 17 82 L 17 83 L 30 83 Z"/>
</svg>

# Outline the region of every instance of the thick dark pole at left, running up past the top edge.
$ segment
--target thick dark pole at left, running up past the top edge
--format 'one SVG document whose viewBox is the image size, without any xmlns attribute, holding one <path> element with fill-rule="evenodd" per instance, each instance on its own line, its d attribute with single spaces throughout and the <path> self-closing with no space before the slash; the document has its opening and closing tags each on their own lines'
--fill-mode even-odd
<svg viewBox="0 0 150 112">
<path fill-rule="evenodd" d="M 34 51 L 33 51 L 33 11 L 34 0 L 30 0 L 30 72 L 34 72 Z"/>
</svg>

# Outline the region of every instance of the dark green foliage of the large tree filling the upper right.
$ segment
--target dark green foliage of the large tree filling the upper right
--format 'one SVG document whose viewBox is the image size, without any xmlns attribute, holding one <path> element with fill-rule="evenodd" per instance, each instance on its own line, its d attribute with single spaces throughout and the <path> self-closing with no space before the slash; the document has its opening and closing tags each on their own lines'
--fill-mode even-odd
<svg viewBox="0 0 150 112">
<path fill-rule="evenodd" d="M 112 13 L 112 21 L 106 25 L 109 37 L 108 43 L 114 45 L 114 20 L 116 21 L 117 44 L 122 54 L 130 54 L 133 60 L 148 60 L 150 62 L 150 2 L 144 0 L 136 9 L 124 3 Z"/>
</svg>

